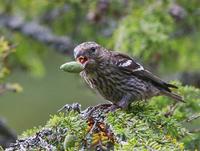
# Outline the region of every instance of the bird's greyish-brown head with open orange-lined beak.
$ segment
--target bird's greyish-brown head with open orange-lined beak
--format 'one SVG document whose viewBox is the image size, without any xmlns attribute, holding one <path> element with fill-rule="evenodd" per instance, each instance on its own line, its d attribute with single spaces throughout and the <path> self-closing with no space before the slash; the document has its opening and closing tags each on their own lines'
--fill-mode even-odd
<svg viewBox="0 0 200 151">
<path fill-rule="evenodd" d="M 74 49 L 74 57 L 85 69 L 94 69 L 98 65 L 98 60 L 104 53 L 103 47 L 95 42 L 84 42 Z"/>
</svg>

